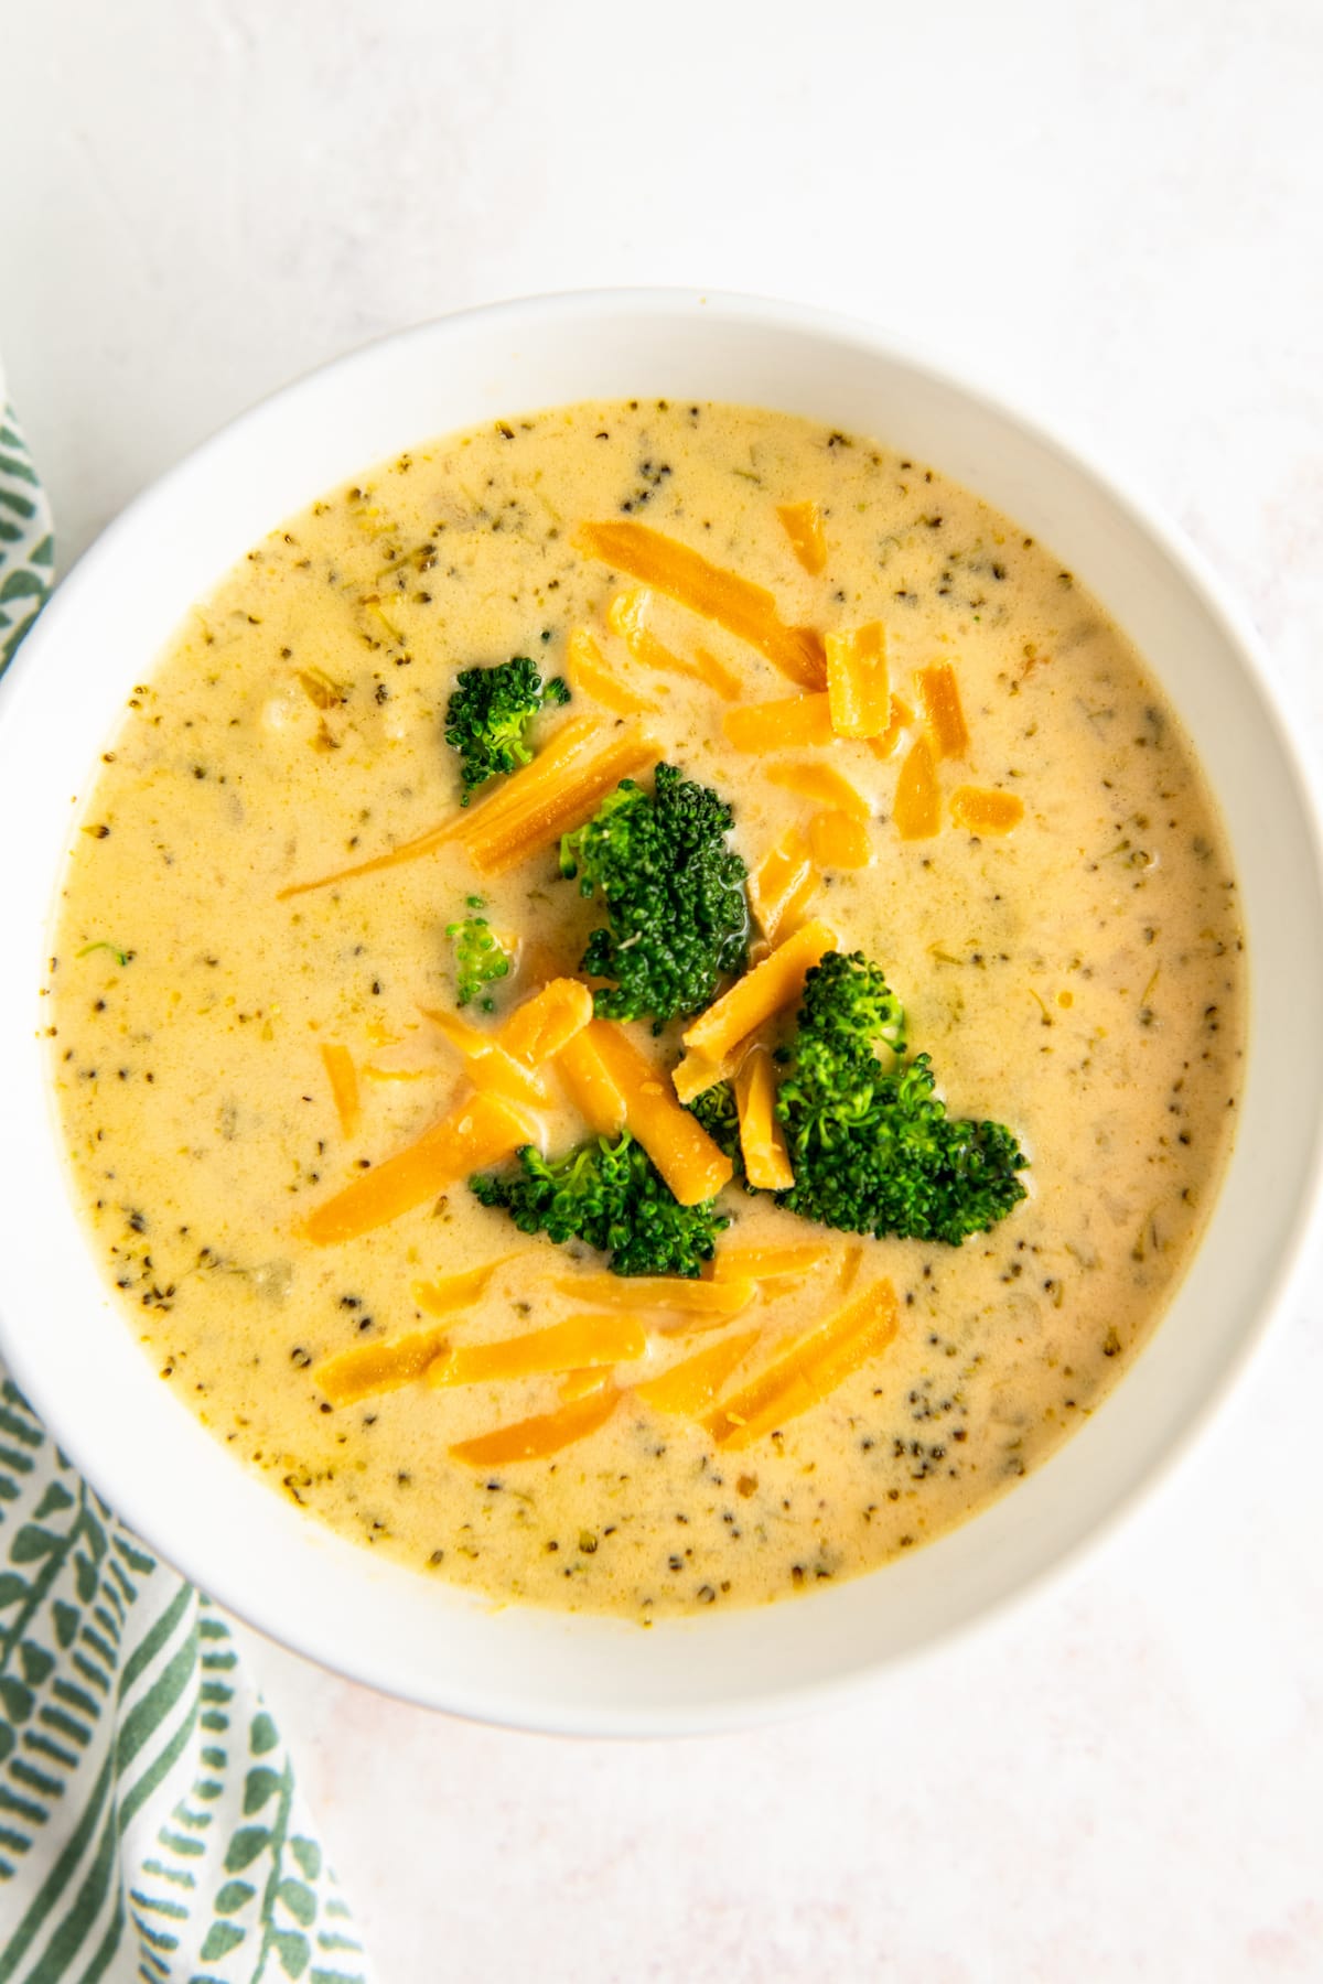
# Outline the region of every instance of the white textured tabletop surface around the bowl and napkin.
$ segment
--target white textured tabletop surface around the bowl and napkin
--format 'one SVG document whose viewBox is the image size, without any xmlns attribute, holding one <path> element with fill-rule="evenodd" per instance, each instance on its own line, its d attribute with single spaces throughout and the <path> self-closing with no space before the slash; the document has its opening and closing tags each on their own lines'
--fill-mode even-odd
<svg viewBox="0 0 1323 1984">
<path fill-rule="evenodd" d="M 379 331 L 764 290 L 1144 482 L 1319 758 L 1313 0 L 48 0 L 0 73 L 0 343 L 65 554 Z M 383 1984 L 1323 1976 L 1321 1315 L 1067 1583 L 847 1712 L 571 1746 L 256 1647 Z"/>
</svg>

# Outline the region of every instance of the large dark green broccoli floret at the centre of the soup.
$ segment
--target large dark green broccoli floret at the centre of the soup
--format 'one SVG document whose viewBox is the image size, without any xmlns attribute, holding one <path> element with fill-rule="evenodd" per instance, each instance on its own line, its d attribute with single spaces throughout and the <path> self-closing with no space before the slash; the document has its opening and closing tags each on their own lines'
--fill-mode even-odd
<svg viewBox="0 0 1323 1984">
<path fill-rule="evenodd" d="M 561 839 L 561 875 L 601 893 L 607 927 L 593 930 L 581 970 L 615 984 L 593 994 L 607 1020 L 702 1012 L 748 950 L 748 869 L 726 845 L 732 811 L 670 764 L 655 790 L 623 780 L 595 817 Z"/>
</svg>

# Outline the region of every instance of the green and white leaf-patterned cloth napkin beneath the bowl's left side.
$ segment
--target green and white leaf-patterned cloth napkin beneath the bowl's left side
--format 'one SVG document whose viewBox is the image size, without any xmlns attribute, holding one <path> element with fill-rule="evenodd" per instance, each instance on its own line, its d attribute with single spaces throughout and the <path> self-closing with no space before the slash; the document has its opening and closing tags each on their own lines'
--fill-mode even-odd
<svg viewBox="0 0 1323 1984">
<path fill-rule="evenodd" d="M 0 377 L 0 673 L 54 573 Z M 369 1984 L 224 1615 L 0 1365 L 0 1984 Z"/>
</svg>

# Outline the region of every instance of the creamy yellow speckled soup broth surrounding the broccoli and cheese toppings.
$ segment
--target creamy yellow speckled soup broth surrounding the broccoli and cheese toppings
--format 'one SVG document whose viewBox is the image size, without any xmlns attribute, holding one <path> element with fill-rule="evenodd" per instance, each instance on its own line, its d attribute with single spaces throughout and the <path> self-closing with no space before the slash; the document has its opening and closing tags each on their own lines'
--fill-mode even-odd
<svg viewBox="0 0 1323 1984">
<path fill-rule="evenodd" d="M 819 575 L 778 520 L 805 500 L 823 516 Z M 333 1409 L 319 1361 L 419 1329 L 419 1280 L 506 1256 L 450 1343 L 553 1323 L 587 1305 L 553 1280 L 601 1258 L 522 1236 L 462 1182 L 341 1246 L 311 1246 L 300 1222 L 456 1093 L 456 1052 L 424 1012 L 454 1006 L 444 930 L 466 897 L 520 936 L 496 1016 L 470 1008 L 484 1026 L 571 974 L 601 911 L 553 851 L 488 879 L 440 847 L 280 891 L 450 813 L 456 671 L 532 655 L 563 673 L 575 627 L 657 704 L 645 722 L 664 758 L 728 798 L 750 867 L 807 819 L 813 806 L 766 778 L 772 760 L 730 746 L 720 692 L 641 665 L 609 631 L 631 581 L 575 550 L 575 532 L 621 516 L 768 587 L 785 623 L 881 619 L 912 706 L 914 671 L 954 665 L 970 748 L 938 766 L 946 802 L 968 784 L 1008 790 L 1022 823 L 976 835 L 946 811 L 936 835 L 901 839 L 902 752 L 827 746 L 871 804 L 873 859 L 829 869 L 813 915 L 887 970 L 950 1111 L 1016 1131 L 1029 1196 L 962 1248 L 865 1240 L 859 1260 L 851 1236 L 728 1188 L 722 1248 L 825 1240 L 817 1268 L 730 1323 L 764 1331 L 750 1369 L 839 1307 L 851 1276 L 895 1284 L 885 1355 L 728 1452 L 629 1391 L 710 1341 L 653 1333 L 605 1426 L 545 1460 L 474 1468 L 450 1446 L 553 1409 L 557 1377 L 415 1383 Z M 716 657 L 746 700 L 797 690 L 678 603 L 657 601 L 651 629 L 672 655 Z M 538 734 L 583 710 L 577 694 Z M 133 690 L 79 817 L 50 1048 L 73 1188 L 125 1321 L 161 1381 L 278 1492 L 494 1599 L 653 1619 L 774 1599 L 940 1536 L 1099 1407 L 1186 1268 L 1224 1165 L 1240 913 L 1176 714 L 1049 550 L 859 436 L 631 401 L 421 446 L 272 532 L 190 613 Z M 678 1057 L 678 1028 L 637 1038 L 659 1065 Z M 357 1067 L 351 1137 L 327 1042 Z M 541 1129 L 551 1151 L 583 1137 L 555 1093 Z"/>
</svg>

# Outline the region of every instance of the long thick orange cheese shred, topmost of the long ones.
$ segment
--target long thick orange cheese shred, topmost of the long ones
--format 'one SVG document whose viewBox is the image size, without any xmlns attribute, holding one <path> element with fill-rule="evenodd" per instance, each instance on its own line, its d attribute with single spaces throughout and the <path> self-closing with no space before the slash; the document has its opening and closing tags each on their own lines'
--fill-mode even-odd
<svg viewBox="0 0 1323 1984">
<path fill-rule="evenodd" d="M 655 585 L 690 613 L 716 621 L 738 641 L 748 641 L 791 682 L 803 688 L 825 684 L 821 635 L 811 627 L 787 627 L 776 611 L 772 593 L 762 585 L 708 563 L 700 552 L 676 538 L 625 518 L 583 524 L 577 542 L 615 571 L 627 571 L 633 579 Z"/>
</svg>

